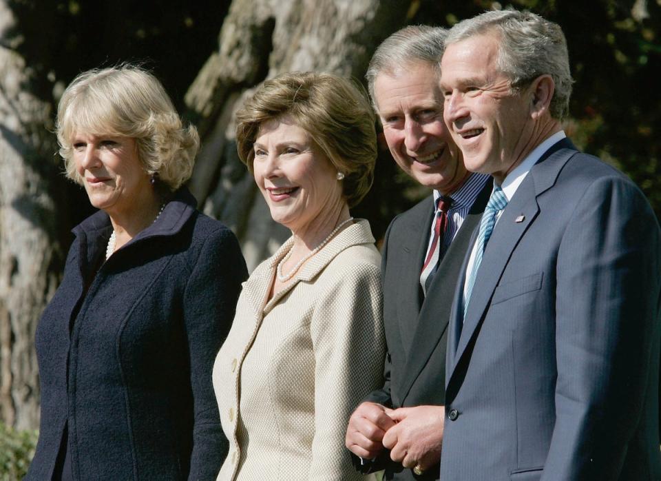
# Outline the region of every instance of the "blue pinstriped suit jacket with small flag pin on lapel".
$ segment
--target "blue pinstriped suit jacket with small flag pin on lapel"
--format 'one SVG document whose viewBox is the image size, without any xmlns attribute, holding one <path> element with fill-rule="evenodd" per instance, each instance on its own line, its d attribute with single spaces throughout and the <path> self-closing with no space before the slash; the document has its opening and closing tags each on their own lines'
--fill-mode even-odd
<svg viewBox="0 0 661 481">
<path fill-rule="evenodd" d="M 532 167 L 448 336 L 443 480 L 659 480 L 660 230 L 568 139 Z"/>
</svg>

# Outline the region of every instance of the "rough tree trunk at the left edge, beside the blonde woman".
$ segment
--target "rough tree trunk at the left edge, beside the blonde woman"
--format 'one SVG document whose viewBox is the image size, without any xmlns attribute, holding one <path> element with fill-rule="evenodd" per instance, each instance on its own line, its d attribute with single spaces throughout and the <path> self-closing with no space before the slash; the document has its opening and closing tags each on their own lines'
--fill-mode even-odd
<svg viewBox="0 0 661 481">
<path fill-rule="evenodd" d="M 39 427 L 34 330 L 59 283 L 52 108 L 19 53 L 10 0 L 0 0 L 0 419 Z M 47 130 L 48 129 L 48 130 Z M 63 207 L 63 204 L 59 204 Z"/>
</svg>

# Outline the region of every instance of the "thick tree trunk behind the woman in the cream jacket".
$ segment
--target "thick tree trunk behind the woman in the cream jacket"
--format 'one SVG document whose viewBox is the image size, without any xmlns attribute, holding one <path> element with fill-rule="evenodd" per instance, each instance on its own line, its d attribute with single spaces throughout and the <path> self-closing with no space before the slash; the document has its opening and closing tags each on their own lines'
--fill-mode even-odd
<svg viewBox="0 0 661 481">
<path fill-rule="evenodd" d="M 204 212 L 233 228 L 249 269 L 288 236 L 235 150 L 233 113 L 265 78 L 318 70 L 363 79 L 379 43 L 407 19 L 416 1 L 234 0 L 220 47 L 186 95 L 202 150 L 191 190 Z"/>
</svg>

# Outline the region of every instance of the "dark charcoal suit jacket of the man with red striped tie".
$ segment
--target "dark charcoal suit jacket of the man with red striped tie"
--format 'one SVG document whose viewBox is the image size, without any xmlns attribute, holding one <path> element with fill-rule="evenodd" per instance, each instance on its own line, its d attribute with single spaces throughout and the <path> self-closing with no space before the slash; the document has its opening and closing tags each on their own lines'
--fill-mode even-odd
<svg viewBox="0 0 661 481">
<path fill-rule="evenodd" d="M 426 297 L 420 287 L 420 272 L 434 216 L 432 196 L 390 223 L 381 260 L 388 346 L 385 383 L 366 400 L 392 408 L 445 404 L 443 373 L 452 295 L 468 241 L 481 219 L 491 189 L 492 183 L 487 182 L 477 196 L 445 252 Z M 415 476 L 410 469 L 392 462 L 389 453 L 370 466 L 372 471 L 384 468 L 386 480 L 438 479 L 438 467 L 428 469 L 423 476 Z"/>
</svg>

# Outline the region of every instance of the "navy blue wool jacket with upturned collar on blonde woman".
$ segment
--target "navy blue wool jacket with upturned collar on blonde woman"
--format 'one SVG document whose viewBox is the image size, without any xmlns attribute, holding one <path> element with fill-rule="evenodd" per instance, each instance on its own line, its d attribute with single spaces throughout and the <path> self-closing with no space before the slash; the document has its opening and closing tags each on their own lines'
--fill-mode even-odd
<svg viewBox="0 0 661 481">
<path fill-rule="evenodd" d="M 76 480 L 215 479 L 227 440 L 211 369 L 247 276 L 239 245 L 186 190 L 101 265 L 111 232 L 105 212 L 74 229 L 37 327 L 41 428 L 26 479 L 52 478 L 67 424 Z"/>
</svg>

